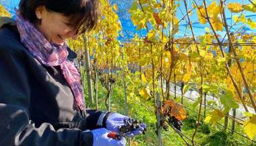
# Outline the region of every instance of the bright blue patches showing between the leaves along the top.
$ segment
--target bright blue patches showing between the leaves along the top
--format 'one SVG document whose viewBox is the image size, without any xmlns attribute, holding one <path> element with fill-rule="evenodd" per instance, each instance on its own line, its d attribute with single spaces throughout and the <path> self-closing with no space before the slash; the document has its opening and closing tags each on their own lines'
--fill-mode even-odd
<svg viewBox="0 0 256 146">
<path fill-rule="evenodd" d="M 12 14 L 14 13 L 14 7 L 18 7 L 18 3 L 20 0 L 0 0 L 0 3 L 2 5 L 4 5 L 6 7 L 6 9 L 8 11 L 10 11 Z M 118 0 L 113 0 L 113 3 L 117 2 Z M 210 1 L 212 0 L 207 0 L 208 3 L 210 3 Z M 131 5 L 133 1 L 129 1 L 126 0 L 126 3 L 129 3 L 129 5 L 127 5 L 126 7 L 122 7 L 122 9 L 125 11 L 127 11 L 127 13 L 129 13 L 129 6 Z M 238 2 L 238 3 L 243 3 L 243 4 L 247 4 L 249 3 L 249 1 L 247 0 L 227 0 L 227 3 L 232 3 L 232 2 Z M 112 3 L 112 4 L 113 4 Z M 192 3 L 190 0 L 187 1 L 188 3 L 188 7 L 192 7 Z M 135 26 L 133 25 L 133 23 L 131 23 L 130 19 L 127 19 L 127 17 L 122 17 L 121 13 L 119 11 L 117 11 L 117 13 L 119 14 L 120 17 L 120 21 L 122 23 L 123 26 L 123 34 L 124 34 L 124 38 L 120 37 L 119 40 L 129 40 L 131 38 L 133 38 L 133 35 L 135 33 L 137 34 L 141 34 L 143 36 L 146 35 L 146 30 L 141 30 L 141 33 L 139 31 L 135 31 Z M 179 9 L 177 9 L 177 17 L 179 19 L 181 19 L 183 17 L 183 15 L 185 15 L 185 7 L 183 4 L 183 1 L 181 1 L 181 5 L 179 7 Z M 234 15 L 234 13 L 230 13 L 230 11 L 226 11 L 226 17 L 228 20 L 228 23 L 234 23 L 232 21 L 232 16 Z M 245 12 L 245 15 L 248 17 L 250 17 L 253 21 L 256 21 L 256 14 L 255 13 L 251 13 L 251 12 Z M 198 18 L 197 18 L 197 14 L 195 13 L 195 11 L 193 11 L 192 15 L 191 15 L 191 21 L 193 22 L 193 29 L 195 31 L 195 35 L 203 35 L 205 33 L 205 27 L 210 27 L 209 25 L 202 25 L 199 23 Z M 183 35 L 185 34 L 185 29 L 188 26 L 188 23 L 185 20 L 181 21 L 180 23 L 180 27 L 179 27 L 179 33 L 177 33 L 175 35 L 175 37 L 183 37 Z M 240 27 L 243 27 L 244 30 L 247 30 L 248 33 L 254 32 L 256 33 L 255 29 L 250 29 L 247 25 L 237 25 L 236 28 L 234 28 L 231 31 L 235 31 L 235 29 L 239 29 Z M 220 35 L 223 35 L 224 33 L 219 32 Z M 191 35 L 191 32 L 189 31 L 189 29 L 187 29 L 186 31 L 186 35 Z"/>
</svg>

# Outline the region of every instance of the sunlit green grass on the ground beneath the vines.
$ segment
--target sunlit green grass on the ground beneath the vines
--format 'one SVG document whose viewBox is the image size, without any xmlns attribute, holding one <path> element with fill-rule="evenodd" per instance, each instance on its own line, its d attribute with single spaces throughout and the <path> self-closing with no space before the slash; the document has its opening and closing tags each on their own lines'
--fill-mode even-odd
<svg viewBox="0 0 256 146">
<path fill-rule="evenodd" d="M 87 84 L 84 83 L 84 85 L 86 90 Z M 106 90 L 100 86 L 100 84 L 98 84 L 98 102 L 102 111 L 106 111 L 106 107 L 104 106 L 105 95 Z M 179 100 L 180 99 L 177 98 L 178 102 Z M 120 88 L 117 88 L 117 86 L 111 94 L 111 103 L 112 111 L 125 114 L 123 91 L 120 90 Z M 89 103 L 87 103 L 87 105 L 89 105 Z M 90 106 L 93 107 L 94 104 L 90 104 Z M 148 106 L 148 108 L 145 106 Z M 186 99 L 184 101 L 184 106 L 192 109 L 193 111 L 198 111 L 198 107 L 194 108 Z M 183 121 L 182 132 L 191 138 L 196 127 L 197 113 L 189 110 L 186 111 L 187 119 Z M 207 109 L 206 113 L 209 112 L 210 110 Z M 154 113 L 154 106 L 152 105 L 152 101 L 143 100 L 138 96 L 134 96 L 133 98 L 129 97 L 129 115 L 132 115 L 133 118 L 138 119 L 139 121 L 143 121 L 148 125 L 148 131 L 146 132 L 146 135 L 139 135 L 131 139 L 131 146 L 158 145 L 158 137 L 156 135 L 156 116 Z M 220 123 L 223 124 L 224 120 L 222 119 Z M 231 125 L 231 120 L 229 125 Z M 243 127 L 236 125 L 236 131 L 238 133 L 243 133 Z M 190 143 L 190 141 L 188 142 Z M 163 145 L 168 146 L 185 145 L 185 142 L 181 139 L 181 137 L 179 137 L 179 135 L 175 133 L 170 127 L 168 131 L 162 131 L 162 143 Z M 241 137 L 237 134 L 231 135 L 230 131 L 226 131 L 225 133 L 223 131 L 223 127 L 220 127 L 219 125 L 208 125 L 203 123 L 203 121 L 201 121 L 201 126 L 199 127 L 195 136 L 195 143 L 197 143 L 197 145 L 208 146 L 256 146 L 255 143 L 252 143 L 244 137 Z"/>
</svg>

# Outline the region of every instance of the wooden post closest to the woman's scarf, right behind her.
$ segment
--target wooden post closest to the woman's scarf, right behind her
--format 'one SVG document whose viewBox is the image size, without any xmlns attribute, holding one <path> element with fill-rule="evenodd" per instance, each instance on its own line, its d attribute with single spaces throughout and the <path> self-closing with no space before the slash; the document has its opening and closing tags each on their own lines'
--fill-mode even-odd
<svg viewBox="0 0 256 146">
<path fill-rule="evenodd" d="M 86 68 L 87 83 L 88 83 L 88 96 L 89 96 L 90 104 L 93 104 L 94 98 L 92 97 L 92 75 L 90 72 L 90 54 L 86 44 L 87 44 L 87 39 L 86 37 L 84 37 L 84 50 L 85 50 L 84 57 L 86 60 L 85 68 Z"/>
</svg>

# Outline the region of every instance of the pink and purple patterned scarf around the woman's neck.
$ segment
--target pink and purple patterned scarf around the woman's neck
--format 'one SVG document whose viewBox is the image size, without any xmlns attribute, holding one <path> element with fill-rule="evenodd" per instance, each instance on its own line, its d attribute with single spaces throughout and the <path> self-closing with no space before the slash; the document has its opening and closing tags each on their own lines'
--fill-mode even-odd
<svg viewBox="0 0 256 146">
<path fill-rule="evenodd" d="M 18 11 L 16 12 L 16 23 L 22 44 L 41 64 L 61 66 L 61 72 L 75 96 L 77 106 L 84 110 L 84 91 L 80 74 L 73 62 L 67 60 L 67 44 L 61 46 L 48 42 L 42 33 L 32 23 L 26 21 Z"/>
</svg>

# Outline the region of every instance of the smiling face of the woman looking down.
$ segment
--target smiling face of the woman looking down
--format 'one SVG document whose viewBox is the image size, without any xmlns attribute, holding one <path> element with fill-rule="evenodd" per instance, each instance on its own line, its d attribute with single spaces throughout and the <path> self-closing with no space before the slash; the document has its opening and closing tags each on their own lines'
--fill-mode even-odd
<svg viewBox="0 0 256 146">
<path fill-rule="evenodd" d="M 77 38 L 76 29 L 63 14 L 48 11 L 46 7 L 40 6 L 36 9 L 36 17 L 41 21 L 36 23 L 36 27 L 49 42 L 63 45 L 66 39 Z"/>
</svg>

